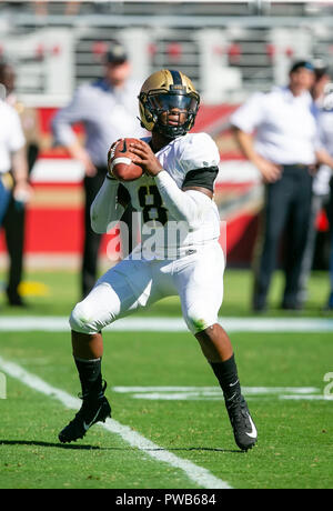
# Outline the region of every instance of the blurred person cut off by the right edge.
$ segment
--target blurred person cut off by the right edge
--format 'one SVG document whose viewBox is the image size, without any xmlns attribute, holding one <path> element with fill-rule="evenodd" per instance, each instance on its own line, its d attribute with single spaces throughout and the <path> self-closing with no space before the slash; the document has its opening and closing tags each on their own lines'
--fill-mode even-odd
<svg viewBox="0 0 333 511">
<path fill-rule="evenodd" d="M 314 68 L 315 80 L 311 94 L 313 111 L 319 124 L 320 139 L 324 148 L 333 157 L 333 89 L 330 87 L 331 73 L 324 63 Z M 303 254 L 297 300 L 303 307 L 307 299 L 307 283 L 311 274 L 316 242 L 316 219 L 319 213 L 330 204 L 332 169 L 320 166 L 313 179 L 311 217 L 307 232 L 306 247 Z M 332 302 L 333 307 L 333 302 Z"/>
</svg>

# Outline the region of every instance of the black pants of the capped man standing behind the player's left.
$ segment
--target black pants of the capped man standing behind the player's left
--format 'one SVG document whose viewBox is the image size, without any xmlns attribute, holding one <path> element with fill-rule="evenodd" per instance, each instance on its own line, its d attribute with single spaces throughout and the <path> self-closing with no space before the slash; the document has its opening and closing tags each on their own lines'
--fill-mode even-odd
<svg viewBox="0 0 333 511">
<path fill-rule="evenodd" d="M 98 194 L 107 174 L 107 168 L 99 167 L 98 172 L 92 178 L 84 178 L 83 187 L 85 192 L 85 204 L 84 204 L 84 243 L 83 243 L 83 259 L 82 259 L 82 271 L 81 271 L 81 292 L 82 298 L 87 297 L 90 291 L 92 290 L 98 273 L 98 257 L 99 257 L 99 249 L 101 244 L 101 234 L 97 234 L 91 229 L 91 220 L 90 220 L 90 207 Z M 132 208 L 127 208 L 124 214 L 122 216 L 121 220 L 128 223 L 129 232 L 130 232 L 130 242 L 132 239 L 131 229 L 132 229 L 132 220 L 131 220 L 131 212 Z M 132 247 L 129 247 L 129 250 L 132 250 Z"/>
</svg>

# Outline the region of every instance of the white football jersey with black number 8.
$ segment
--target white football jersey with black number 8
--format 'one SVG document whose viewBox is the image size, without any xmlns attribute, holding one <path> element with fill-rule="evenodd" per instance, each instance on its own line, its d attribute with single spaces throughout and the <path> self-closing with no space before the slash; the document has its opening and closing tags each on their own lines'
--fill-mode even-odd
<svg viewBox="0 0 333 511">
<path fill-rule="evenodd" d="M 142 140 L 150 141 L 149 138 Z M 186 176 L 189 178 L 189 172 L 195 170 L 199 171 L 199 181 L 196 180 L 193 186 L 200 186 L 200 174 L 204 174 L 204 169 L 209 171 L 209 169 L 216 168 L 220 161 L 219 149 L 206 133 L 188 133 L 179 137 L 163 147 L 155 156 L 180 189 Z M 124 182 L 123 186 L 130 193 L 133 208 L 142 213 L 142 226 L 155 227 L 155 231 L 159 229 L 160 234 L 163 231 L 163 236 L 155 239 L 157 257 L 165 257 L 165 250 L 170 257 L 174 257 L 174 251 L 179 255 L 191 253 L 189 252 L 191 249 L 198 250 L 201 246 L 219 239 L 220 217 L 213 200 L 202 222 L 195 229 L 179 226 L 181 230 L 179 236 L 179 233 L 175 234 L 176 220 L 165 208 L 154 178 L 143 174 L 135 181 Z M 189 187 L 191 187 L 190 180 Z"/>
</svg>

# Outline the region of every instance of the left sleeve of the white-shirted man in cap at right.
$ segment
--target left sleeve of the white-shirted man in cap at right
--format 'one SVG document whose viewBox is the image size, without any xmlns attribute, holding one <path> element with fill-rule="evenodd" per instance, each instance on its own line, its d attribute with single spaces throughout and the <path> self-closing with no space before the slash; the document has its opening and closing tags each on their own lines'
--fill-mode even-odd
<svg viewBox="0 0 333 511">
<path fill-rule="evenodd" d="M 264 94 L 262 92 L 253 94 L 230 117 L 230 123 L 245 133 L 252 133 L 263 120 Z"/>
</svg>

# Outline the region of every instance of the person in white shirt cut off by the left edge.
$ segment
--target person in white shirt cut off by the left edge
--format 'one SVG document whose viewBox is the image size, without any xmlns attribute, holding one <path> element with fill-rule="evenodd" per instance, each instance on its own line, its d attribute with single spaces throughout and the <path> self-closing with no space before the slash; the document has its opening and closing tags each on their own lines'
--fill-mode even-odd
<svg viewBox="0 0 333 511">
<path fill-rule="evenodd" d="M 1 70 L 3 71 L 3 64 Z M 9 240 L 10 257 L 12 252 L 11 240 L 16 239 L 20 226 L 11 223 L 9 204 L 12 200 L 27 202 L 31 196 L 28 182 L 28 161 L 26 156 L 26 139 L 17 110 L 7 103 L 7 89 L 1 83 L 0 99 L 0 227 L 6 224 L 7 241 Z M 12 264 L 7 297 L 11 305 L 21 305 L 17 280 L 12 277 Z M 18 275 L 17 275 L 18 277 Z M 20 275 L 19 275 L 20 277 Z"/>
</svg>

